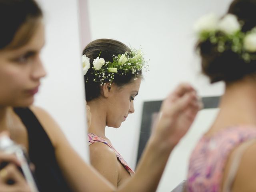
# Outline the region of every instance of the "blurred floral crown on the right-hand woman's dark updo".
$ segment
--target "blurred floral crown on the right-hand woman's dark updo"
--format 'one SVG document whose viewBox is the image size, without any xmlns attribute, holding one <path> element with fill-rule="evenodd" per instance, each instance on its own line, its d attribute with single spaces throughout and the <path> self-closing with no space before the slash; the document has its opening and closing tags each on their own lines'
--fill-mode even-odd
<svg viewBox="0 0 256 192">
<path fill-rule="evenodd" d="M 199 42 L 209 40 L 216 45 L 218 52 L 232 50 L 246 63 L 256 60 L 256 28 L 242 32 L 242 22 L 233 14 L 218 18 L 215 14 L 203 16 L 196 22 Z"/>
</svg>

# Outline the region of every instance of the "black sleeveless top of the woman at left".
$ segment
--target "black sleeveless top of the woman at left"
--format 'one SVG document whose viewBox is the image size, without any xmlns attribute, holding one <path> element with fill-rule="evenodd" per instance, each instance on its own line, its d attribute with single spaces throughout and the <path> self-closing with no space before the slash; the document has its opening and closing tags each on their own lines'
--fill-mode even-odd
<svg viewBox="0 0 256 192">
<path fill-rule="evenodd" d="M 40 191 L 71 192 L 58 166 L 55 149 L 36 115 L 29 108 L 14 108 L 28 132 L 29 157 L 35 164 Z"/>
</svg>

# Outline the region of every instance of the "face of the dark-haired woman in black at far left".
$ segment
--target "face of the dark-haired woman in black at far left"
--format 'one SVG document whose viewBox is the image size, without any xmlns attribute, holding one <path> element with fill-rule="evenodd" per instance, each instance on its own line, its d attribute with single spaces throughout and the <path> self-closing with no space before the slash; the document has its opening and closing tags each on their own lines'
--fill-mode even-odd
<svg viewBox="0 0 256 192">
<path fill-rule="evenodd" d="M 46 75 L 39 56 L 44 41 L 44 24 L 40 23 L 27 44 L 0 50 L 0 106 L 29 106 L 34 102 L 40 79 Z"/>
</svg>

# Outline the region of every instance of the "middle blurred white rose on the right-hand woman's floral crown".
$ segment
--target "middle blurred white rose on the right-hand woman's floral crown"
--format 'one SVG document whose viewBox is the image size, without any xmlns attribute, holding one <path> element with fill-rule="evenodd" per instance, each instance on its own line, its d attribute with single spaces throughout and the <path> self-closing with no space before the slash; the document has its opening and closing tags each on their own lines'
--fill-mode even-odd
<svg viewBox="0 0 256 192">
<path fill-rule="evenodd" d="M 233 14 L 227 14 L 222 18 L 218 24 L 218 30 L 226 33 L 226 34 L 234 34 L 238 30 L 240 30 L 240 24 Z"/>
</svg>

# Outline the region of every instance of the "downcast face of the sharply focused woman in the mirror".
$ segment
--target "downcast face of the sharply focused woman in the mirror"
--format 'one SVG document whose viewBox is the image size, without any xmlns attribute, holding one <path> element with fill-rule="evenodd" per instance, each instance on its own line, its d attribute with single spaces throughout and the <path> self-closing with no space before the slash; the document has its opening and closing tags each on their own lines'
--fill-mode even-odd
<svg viewBox="0 0 256 192">
<path fill-rule="evenodd" d="M 111 87 L 113 94 L 108 98 L 107 126 L 118 128 L 130 113 L 134 113 L 134 98 L 138 95 L 141 78 L 132 80 L 122 88 Z"/>
</svg>

